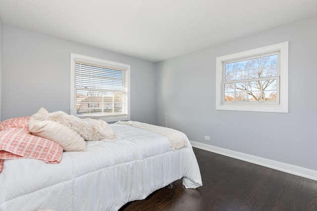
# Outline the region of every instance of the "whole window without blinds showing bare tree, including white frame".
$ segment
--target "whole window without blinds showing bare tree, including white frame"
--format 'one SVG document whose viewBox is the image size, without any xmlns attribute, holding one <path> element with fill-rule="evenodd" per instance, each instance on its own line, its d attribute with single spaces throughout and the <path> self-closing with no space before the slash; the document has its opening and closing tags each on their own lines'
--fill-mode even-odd
<svg viewBox="0 0 317 211">
<path fill-rule="evenodd" d="M 216 58 L 216 109 L 288 112 L 288 42 Z"/>
</svg>

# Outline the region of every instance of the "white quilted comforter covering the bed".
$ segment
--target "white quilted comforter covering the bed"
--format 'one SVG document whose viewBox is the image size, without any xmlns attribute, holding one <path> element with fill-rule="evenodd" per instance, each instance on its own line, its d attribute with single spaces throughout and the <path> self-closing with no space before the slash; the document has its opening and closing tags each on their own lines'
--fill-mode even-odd
<svg viewBox="0 0 317 211">
<path fill-rule="evenodd" d="M 202 185 L 188 141 L 172 150 L 160 134 L 111 125 L 117 138 L 87 143 L 87 152 L 64 152 L 60 164 L 6 160 L 0 173 L 0 211 L 116 211 L 183 177 Z"/>
</svg>

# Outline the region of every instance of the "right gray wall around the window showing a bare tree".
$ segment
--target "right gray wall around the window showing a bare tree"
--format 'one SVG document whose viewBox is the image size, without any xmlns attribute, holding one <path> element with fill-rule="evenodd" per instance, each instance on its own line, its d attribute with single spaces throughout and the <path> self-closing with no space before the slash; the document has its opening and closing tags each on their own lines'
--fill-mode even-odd
<svg viewBox="0 0 317 211">
<path fill-rule="evenodd" d="M 317 16 L 159 62 L 156 124 L 167 119 L 192 141 L 317 170 L 316 39 Z M 285 41 L 289 113 L 215 110 L 217 56 Z"/>
</svg>

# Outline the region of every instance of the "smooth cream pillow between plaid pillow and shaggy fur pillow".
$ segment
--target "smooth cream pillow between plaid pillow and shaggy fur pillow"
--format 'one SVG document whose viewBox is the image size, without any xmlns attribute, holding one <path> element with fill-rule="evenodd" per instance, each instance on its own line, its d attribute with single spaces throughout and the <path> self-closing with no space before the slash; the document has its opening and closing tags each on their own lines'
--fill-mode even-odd
<svg viewBox="0 0 317 211">
<path fill-rule="evenodd" d="M 60 144 L 64 151 L 87 151 L 83 137 L 69 127 L 53 121 L 37 121 L 30 118 L 29 131 Z"/>
</svg>

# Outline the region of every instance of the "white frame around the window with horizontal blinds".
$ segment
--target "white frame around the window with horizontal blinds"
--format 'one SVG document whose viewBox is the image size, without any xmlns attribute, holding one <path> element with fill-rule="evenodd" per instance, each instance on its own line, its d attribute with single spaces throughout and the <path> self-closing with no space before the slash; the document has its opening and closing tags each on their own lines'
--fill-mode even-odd
<svg viewBox="0 0 317 211">
<path fill-rule="evenodd" d="M 83 62 L 92 65 L 104 66 L 109 68 L 118 68 L 124 69 L 127 71 L 127 114 L 126 115 L 110 115 L 110 116 L 100 116 L 93 117 L 87 116 L 84 118 L 94 118 L 94 119 L 102 119 L 106 122 L 116 122 L 116 121 L 125 121 L 130 120 L 130 65 L 107 61 L 104 59 L 98 59 L 94 57 L 79 55 L 70 53 L 70 114 L 76 116 L 76 93 L 75 93 L 75 64 L 76 62 Z"/>
</svg>

